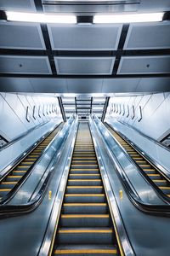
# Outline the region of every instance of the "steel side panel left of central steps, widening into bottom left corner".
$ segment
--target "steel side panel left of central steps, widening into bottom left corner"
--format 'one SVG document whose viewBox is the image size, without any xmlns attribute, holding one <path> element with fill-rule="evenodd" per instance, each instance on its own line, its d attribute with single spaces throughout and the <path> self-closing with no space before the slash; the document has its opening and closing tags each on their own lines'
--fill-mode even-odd
<svg viewBox="0 0 170 256">
<path fill-rule="evenodd" d="M 62 152 L 60 152 L 60 158 L 54 166 L 54 176 L 48 184 L 48 190 L 42 200 L 42 204 L 30 214 L 0 219 L 2 255 L 10 255 L 13 252 L 14 256 L 37 256 L 46 233 L 48 219 L 54 206 L 55 195 L 59 189 L 59 181 L 64 171 L 67 152 L 71 147 L 72 139 L 71 132 Z M 51 200 L 48 198 L 49 191 L 52 191 Z"/>
</svg>

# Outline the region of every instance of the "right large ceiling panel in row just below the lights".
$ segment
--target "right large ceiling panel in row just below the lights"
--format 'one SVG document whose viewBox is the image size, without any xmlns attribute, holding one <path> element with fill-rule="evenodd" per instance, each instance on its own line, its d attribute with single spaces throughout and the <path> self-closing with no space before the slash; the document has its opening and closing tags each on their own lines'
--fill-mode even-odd
<svg viewBox="0 0 170 256">
<path fill-rule="evenodd" d="M 124 49 L 170 48 L 170 22 L 133 23 L 129 26 Z"/>
</svg>

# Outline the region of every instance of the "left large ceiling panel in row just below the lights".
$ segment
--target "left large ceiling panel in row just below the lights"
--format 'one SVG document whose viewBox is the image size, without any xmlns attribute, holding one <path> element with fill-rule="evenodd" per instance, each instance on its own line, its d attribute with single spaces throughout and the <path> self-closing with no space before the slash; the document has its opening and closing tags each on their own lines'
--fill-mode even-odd
<svg viewBox="0 0 170 256">
<path fill-rule="evenodd" d="M 0 48 L 46 49 L 37 23 L 0 22 Z"/>
</svg>

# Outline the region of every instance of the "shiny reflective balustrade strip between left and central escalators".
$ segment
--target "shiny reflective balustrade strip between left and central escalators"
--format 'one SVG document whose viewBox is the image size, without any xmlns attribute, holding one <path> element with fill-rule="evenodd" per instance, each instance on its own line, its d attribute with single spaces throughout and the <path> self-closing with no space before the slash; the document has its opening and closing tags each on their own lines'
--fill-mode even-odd
<svg viewBox="0 0 170 256">
<path fill-rule="evenodd" d="M 48 147 L 45 148 L 44 152 L 37 160 L 36 166 L 33 166 L 31 174 L 8 204 L 26 204 L 28 201 L 31 201 L 32 197 L 36 196 L 35 194 L 38 191 L 38 187 L 41 187 L 43 180 L 48 175 L 48 172 L 50 172 L 51 161 L 60 158 L 61 151 L 65 145 L 65 140 L 69 136 L 69 131 L 71 132 L 70 129 L 72 129 L 73 126 L 74 118 L 71 117 L 67 123 L 65 123 L 62 130 L 59 131 L 54 139 L 48 144 Z"/>
</svg>

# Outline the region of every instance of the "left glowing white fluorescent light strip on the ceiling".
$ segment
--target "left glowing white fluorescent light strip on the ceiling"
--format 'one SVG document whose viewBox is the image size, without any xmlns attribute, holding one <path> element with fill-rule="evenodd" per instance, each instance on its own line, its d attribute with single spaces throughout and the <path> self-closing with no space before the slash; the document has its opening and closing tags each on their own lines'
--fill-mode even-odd
<svg viewBox="0 0 170 256">
<path fill-rule="evenodd" d="M 6 12 L 7 20 L 38 23 L 77 23 L 75 15 L 46 15 L 21 12 Z"/>
</svg>

